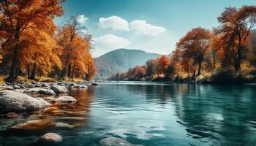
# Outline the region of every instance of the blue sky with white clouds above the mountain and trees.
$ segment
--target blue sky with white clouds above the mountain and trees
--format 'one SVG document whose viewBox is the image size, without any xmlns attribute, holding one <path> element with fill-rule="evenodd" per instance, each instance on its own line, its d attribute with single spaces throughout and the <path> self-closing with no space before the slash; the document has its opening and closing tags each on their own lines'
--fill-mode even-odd
<svg viewBox="0 0 256 146">
<path fill-rule="evenodd" d="M 94 38 L 94 57 L 120 47 L 169 54 L 187 31 L 216 27 L 225 7 L 244 4 L 256 0 L 67 0 L 56 23 L 80 15 Z"/>
</svg>

